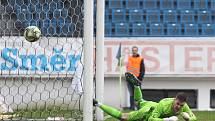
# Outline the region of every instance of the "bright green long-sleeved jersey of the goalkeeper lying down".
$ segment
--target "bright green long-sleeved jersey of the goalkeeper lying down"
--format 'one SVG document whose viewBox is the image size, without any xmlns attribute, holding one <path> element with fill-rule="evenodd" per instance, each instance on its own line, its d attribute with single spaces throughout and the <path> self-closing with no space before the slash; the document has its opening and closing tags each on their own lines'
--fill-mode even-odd
<svg viewBox="0 0 215 121">
<path fill-rule="evenodd" d="M 177 116 L 182 112 L 187 112 L 190 116 L 189 121 L 196 121 L 196 116 L 190 110 L 187 103 L 183 105 L 183 107 L 178 111 L 173 111 L 173 102 L 174 98 L 165 98 L 161 100 L 155 107 L 155 109 L 151 112 L 148 121 L 163 121 L 163 118 L 167 118 L 170 116 Z"/>
</svg>

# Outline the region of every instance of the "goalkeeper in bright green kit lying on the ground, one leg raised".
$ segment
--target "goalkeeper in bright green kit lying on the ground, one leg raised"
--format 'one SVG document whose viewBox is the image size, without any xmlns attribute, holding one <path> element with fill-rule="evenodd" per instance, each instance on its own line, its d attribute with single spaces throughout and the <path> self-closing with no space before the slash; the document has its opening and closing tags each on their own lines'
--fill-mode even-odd
<svg viewBox="0 0 215 121">
<path fill-rule="evenodd" d="M 185 121 L 196 121 L 196 116 L 192 113 L 186 103 L 186 95 L 178 93 L 175 98 L 165 98 L 159 103 L 146 101 L 142 98 L 139 80 L 131 73 L 125 74 L 128 81 L 134 84 L 134 99 L 140 109 L 129 113 L 122 113 L 115 108 L 101 104 L 93 100 L 93 105 L 102 109 L 105 113 L 122 121 L 177 121 L 181 115 Z"/>
</svg>

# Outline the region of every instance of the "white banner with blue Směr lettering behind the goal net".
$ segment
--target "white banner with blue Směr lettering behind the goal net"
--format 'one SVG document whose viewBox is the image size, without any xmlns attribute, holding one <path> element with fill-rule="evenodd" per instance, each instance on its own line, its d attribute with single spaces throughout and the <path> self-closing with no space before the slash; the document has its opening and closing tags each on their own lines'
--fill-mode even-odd
<svg viewBox="0 0 215 121">
<path fill-rule="evenodd" d="M 71 75 L 80 64 L 83 42 L 77 38 L 0 38 L 2 75 Z"/>
</svg>

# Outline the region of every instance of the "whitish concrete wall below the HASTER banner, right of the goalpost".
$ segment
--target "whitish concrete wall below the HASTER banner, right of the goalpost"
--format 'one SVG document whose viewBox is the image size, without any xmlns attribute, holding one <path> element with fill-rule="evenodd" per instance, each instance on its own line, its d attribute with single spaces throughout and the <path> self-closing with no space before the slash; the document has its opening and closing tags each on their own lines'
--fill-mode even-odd
<svg viewBox="0 0 215 121">
<path fill-rule="evenodd" d="M 146 77 L 143 89 L 195 89 L 197 90 L 197 109 L 210 110 L 210 89 L 215 89 L 214 78 L 204 77 Z M 127 106 L 126 82 L 122 81 L 122 105 Z M 104 103 L 120 108 L 118 77 L 106 77 Z"/>
</svg>

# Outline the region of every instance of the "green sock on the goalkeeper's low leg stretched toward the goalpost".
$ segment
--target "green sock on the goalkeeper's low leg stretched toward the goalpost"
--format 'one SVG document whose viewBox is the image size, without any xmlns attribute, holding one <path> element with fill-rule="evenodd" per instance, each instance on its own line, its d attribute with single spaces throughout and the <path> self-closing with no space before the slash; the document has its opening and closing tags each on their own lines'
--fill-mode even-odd
<svg viewBox="0 0 215 121">
<path fill-rule="evenodd" d="M 121 111 L 118 111 L 117 109 L 115 108 L 112 108 L 110 106 L 107 106 L 107 105 L 100 105 L 99 106 L 105 113 L 111 115 L 112 117 L 114 118 L 117 118 L 117 119 L 121 119 L 121 116 L 122 116 L 122 112 Z"/>
</svg>

